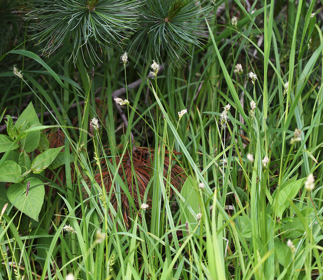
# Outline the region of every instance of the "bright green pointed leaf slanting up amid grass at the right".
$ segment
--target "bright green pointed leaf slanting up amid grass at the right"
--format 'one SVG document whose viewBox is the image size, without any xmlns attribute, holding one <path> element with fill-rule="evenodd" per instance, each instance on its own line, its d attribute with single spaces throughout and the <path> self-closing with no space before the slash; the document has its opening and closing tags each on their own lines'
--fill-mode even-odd
<svg viewBox="0 0 323 280">
<path fill-rule="evenodd" d="M 293 177 L 294 178 L 294 177 Z M 278 206 L 277 206 L 277 217 L 282 218 L 284 211 L 289 206 L 288 199 L 293 199 L 297 195 L 299 189 L 303 184 L 304 179 L 299 179 L 297 181 L 288 182 L 284 187 L 282 185 L 282 189 L 278 194 Z M 272 209 L 274 209 L 276 205 L 277 196 L 275 196 Z"/>
</svg>

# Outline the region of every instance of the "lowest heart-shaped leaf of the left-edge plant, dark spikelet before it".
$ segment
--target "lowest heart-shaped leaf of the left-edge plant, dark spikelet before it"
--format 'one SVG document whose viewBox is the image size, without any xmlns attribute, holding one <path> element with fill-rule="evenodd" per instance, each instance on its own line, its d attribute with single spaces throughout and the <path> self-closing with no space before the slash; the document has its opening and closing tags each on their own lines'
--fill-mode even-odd
<svg viewBox="0 0 323 280">
<path fill-rule="evenodd" d="M 26 197 L 28 181 L 30 181 L 30 186 L 28 195 Z M 26 179 L 23 183 L 12 184 L 7 191 L 7 197 L 9 201 L 16 208 L 18 208 L 19 211 L 25 213 L 27 216 L 29 216 L 37 222 L 39 212 L 41 210 L 41 207 L 43 206 L 44 196 L 44 183 L 36 177 L 30 177 Z"/>
</svg>

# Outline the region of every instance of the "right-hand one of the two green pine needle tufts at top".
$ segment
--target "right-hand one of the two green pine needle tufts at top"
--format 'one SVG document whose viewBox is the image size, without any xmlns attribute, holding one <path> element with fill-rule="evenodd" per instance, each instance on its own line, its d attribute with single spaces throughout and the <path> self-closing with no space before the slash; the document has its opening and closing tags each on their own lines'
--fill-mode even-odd
<svg viewBox="0 0 323 280">
<path fill-rule="evenodd" d="M 177 66 L 184 64 L 178 49 L 188 53 L 188 46 L 201 46 L 205 18 L 212 6 L 195 0 L 146 0 L 138 7 L 140 27 L 131 37 L 129 50 L 146 61 L 161 60 L 166 54 Z"/>
</svg>

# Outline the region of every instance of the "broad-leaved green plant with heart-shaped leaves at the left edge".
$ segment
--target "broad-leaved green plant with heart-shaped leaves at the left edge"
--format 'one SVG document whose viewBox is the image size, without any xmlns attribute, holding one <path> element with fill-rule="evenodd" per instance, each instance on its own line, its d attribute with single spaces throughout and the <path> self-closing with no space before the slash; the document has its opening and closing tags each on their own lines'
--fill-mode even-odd
<svg viewBox="0 0 323 280">
<path fill-rule="evenodd" d="M 57 157 L 57 154 L 64 146 L 53 149 L 46 149 L 46 145 L 41 145 L 44 150 L 31 161 L 28 153 L 34 151 L 40 141 L 41 126 L 33 104 L 30 102 L 21 113 L 16 123 L 13 123 L 11 116 L 7 115 L 7 133 L 0 134 L 0 152 L 11 150 L 18 154 L 18 161 L 7 160 L 0 167 L 0 181 L 12 182 L 6 192 L 8 200 L 18 210 L 38 221 L 38 214 L 44 202 L 44 183 L 30 173 L 39 174 L 45 170 Z M 36 128 L 32 129 L 32 128 Z M 44 136 L 42 136 L 44 137 Z M 30 188 L 30 189 L 29 189 Z M 26 193 L 24 197 L 23 194 Z M 26 199 L 26 201 L 25 201 Z"/>
</svg>

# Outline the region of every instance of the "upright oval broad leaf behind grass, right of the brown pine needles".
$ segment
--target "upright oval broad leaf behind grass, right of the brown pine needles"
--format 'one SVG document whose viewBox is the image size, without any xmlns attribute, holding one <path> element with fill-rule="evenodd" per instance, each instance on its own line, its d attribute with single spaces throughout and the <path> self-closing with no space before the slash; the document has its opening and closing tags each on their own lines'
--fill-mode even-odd
<svg viewBox="0 0 323 280">
<path fill-rule="evenodd" d="M 195 182 L 192 176 L 188 176 L 184 182 L 181 190 L 181 195 L 185 199 L 185 202 L 180 201 L 180 212 L 182 224 L 187 221 L 188 223 L 197 223 L 196 214 L 200 213 L 199 201 L 196 197 L 196 191 L 194 189 Z M 195 215 L 189 210 L 189 206 L 195 212 Z M 183 237 L 187 236 L 186 229 L 183 229 Z"/>
</svg>

